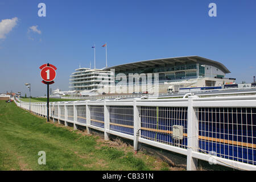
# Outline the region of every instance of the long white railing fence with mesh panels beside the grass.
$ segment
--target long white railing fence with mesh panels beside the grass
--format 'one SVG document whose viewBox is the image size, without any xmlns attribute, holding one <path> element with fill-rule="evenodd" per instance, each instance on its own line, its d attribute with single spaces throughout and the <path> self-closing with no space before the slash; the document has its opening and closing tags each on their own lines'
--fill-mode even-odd
<svg viewBox="0 0 256 182">
<path fill-rule="evenodd" d="M 29 102 L 16 102 L 29 109 Z M 46 103 L 31 103 L 46 117 Z M 256 96 L 51 102 L 54 122 L 73 123 L 187 156 L 187 170 L 197 159 L 210 164 L 256 170 Z"/>
</svg>

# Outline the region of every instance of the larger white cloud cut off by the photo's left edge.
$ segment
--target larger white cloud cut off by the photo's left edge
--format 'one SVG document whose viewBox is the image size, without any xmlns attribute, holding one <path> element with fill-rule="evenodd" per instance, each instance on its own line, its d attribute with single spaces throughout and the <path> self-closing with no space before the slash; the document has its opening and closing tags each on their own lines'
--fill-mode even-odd
<svg viewBox="0 0 256 182">
<path fill-rule="evenodd" d="M 8 34 L 13 28 L 16 26 L 18 22 L 18 18 L 12 18 L 12 19 L 3 19 L 0 22 L 0 39 L 5 39 L 6 34 Z"/>
</svg>

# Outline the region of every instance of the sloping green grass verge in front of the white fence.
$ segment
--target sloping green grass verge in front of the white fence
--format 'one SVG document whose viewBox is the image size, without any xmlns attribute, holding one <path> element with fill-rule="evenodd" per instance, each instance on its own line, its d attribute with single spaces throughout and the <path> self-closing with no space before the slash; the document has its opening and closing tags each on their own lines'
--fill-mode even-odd
<svg viewBox="0 0 256 182">
<path fill-rule="evenodd" d="M 5 101 L 0 101 L 0 130 L 0 170 L 130 171 L 155 165 L 151 156 L 102 145 L 98 137 L 46 123 Z M 38 164 L 39 151 L 46 152 L 46 165 Z"/>
</svg>

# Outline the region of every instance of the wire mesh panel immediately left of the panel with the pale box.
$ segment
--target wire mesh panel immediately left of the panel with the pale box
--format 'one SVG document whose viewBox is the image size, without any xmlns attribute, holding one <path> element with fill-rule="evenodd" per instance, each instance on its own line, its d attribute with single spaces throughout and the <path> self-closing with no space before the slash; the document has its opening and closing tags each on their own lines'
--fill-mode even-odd
<svg viewBox="0 0 256 182">
<path fill-rule="evenodd" d="M 110 130 L 133 135 L 133 106 L 109 106 Z"/>
</svg>

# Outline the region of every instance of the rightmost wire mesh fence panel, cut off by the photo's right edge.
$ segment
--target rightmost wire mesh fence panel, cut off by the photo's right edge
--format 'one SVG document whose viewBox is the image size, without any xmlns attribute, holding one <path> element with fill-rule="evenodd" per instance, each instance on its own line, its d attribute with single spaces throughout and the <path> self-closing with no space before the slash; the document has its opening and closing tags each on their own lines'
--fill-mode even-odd
<svg viewBox="0 0 256 182">
<path fill-rule="evenodd" d="M 256 108 L 199 107 L 199 151 L 256 164 Z"/>
</svg>

